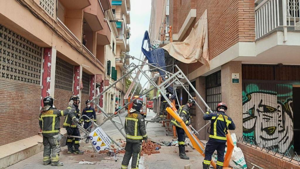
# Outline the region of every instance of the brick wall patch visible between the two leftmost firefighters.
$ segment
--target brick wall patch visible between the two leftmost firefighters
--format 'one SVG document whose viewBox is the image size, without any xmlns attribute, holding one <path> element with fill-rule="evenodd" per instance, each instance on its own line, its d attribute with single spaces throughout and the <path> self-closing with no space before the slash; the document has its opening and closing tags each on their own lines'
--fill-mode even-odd
<svg viewBox="0 0 300 169">
<path fill-rule="evenodd" d="M 57 109 L 64 110 L 67 108 L 69 99 L 73 95 L 73 91 L 67 91 L 63 89 L 54 89 L 54 106 Z M 60 118 L 60 127 L 62 127 L 62 124 L 64 123 L 65 117 Z"/>
</svg>

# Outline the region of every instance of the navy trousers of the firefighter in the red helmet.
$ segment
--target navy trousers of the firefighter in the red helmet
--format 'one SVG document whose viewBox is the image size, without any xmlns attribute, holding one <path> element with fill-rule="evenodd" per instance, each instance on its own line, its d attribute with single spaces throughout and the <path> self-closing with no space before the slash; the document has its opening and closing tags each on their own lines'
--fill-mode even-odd
<svg viewBox="0 0 300 169">
<path fill-rule="evenodd" d="M 223 166 L 224 162 L 224 152 L 225 152 L 225 143 L 217 142 L 213 139 L 209 139 L 205 146 L 205 158 L 203 163 L 204 164 L 210 164 L 211 156 L 214 153 L 215 150 L 217 150 L 217 165 Z"/>
</svg>

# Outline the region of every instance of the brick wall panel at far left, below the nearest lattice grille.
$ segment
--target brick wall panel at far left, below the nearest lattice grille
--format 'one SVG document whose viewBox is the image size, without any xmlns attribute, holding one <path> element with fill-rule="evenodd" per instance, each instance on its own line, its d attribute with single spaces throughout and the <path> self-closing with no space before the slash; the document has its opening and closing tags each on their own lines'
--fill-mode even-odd
<svg viewBox="0 0 300 169">
<path fill-rule="evenodd" d="M 41 86 L 0 79 L 0 146 L 38 134 Z"/>
</svg>

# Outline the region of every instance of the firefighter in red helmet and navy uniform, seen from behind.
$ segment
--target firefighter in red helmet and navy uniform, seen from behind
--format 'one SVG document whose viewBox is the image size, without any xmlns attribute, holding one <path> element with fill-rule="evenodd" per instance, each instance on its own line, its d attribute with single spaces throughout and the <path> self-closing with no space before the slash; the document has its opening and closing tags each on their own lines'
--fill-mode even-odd
<svg viewBox="0 0 300 169">
<path fill-rule="evenodd" d="M 227 130 L 235 130 L 235 124 L 232 119 L 225 114 L 226 110 L 227 105 L 219 103 L 217 105 L 217 113 L 206 112 L 203 116 L 204 120 L 211 120 L 209 139 L 205 146 L 203 169 L 210 167 L 211 155 L 215 150 L 217 150 L 217 169 L 223 168 Z"/>
</svg>

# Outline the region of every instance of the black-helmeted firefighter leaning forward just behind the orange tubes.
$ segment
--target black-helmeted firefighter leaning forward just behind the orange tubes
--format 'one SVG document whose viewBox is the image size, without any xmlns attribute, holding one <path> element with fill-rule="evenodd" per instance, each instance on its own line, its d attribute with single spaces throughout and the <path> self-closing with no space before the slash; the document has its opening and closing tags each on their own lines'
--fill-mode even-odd
<svg viewBox="0 0 300 169">
<path fill-rule="evenodd" d="M 187 100 L 187 103 L 183 106 L 181 106 L 178 110 L 177 113 L 180 116 L 180 118 L 184 121 L 184 123 L 189 126 L 192 127 L 192 125 L 190 124 L 190 107 L 193 106 L 195 104 L 195 100 L 194 99 L 189 99 Z M 177 121 L 173 118 L 171 120 L 171 124 L 175 125 L 176 127 L 176 131 L 177 131 L 177 136 L 178 136 L 178 143 L 179 143 L 179 157 L 185 160 L 189 160 L 190 158 L 187 157 L 187 155 L 185 154 L 185 145 L 184 145 L 184 141 L 185 141 L 185 135 L 184 135 L 184 130 L 181 127 L 180 123 L 177 123 Z"/>
</svg>

